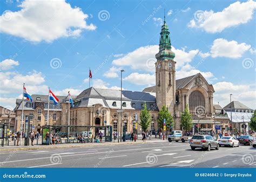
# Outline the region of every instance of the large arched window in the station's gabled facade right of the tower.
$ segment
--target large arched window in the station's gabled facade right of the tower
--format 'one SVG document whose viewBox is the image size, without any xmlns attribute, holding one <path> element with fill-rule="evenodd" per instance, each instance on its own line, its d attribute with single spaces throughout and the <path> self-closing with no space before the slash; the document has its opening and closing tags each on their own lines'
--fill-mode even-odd
<svg viewBox="0 0 256 182">
<path fill-rule="evenodd" d="M 191 114 L 194 114 L 194 115 L 205 114 L 205 97 L 200 91 L 194 90 L 190 94 L 189 107 L 190 107 Z"/>
</svg>

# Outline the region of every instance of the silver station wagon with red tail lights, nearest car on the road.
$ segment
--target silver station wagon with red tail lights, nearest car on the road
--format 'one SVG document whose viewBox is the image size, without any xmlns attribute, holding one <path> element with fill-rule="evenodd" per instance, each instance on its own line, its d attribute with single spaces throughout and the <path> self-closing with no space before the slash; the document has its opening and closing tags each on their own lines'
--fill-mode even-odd
<svg viewBox="0 0 256 182">
<path fill-rule="evenodd" d="M 219 142 L 210 135 L 194 135 L 190 139 L 190 146 L 192 150 L 196 148 L 206 149 L 210 151 L 211 148 L 219 150 Z"/>
</svg>

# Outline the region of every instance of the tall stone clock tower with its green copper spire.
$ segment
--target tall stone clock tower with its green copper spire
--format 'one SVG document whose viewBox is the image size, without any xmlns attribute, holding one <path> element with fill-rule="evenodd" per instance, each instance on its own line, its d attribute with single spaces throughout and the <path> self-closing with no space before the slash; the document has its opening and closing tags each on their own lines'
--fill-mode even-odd
<svg viewBox="0 0 256 182">
<path fill-rule="evenodd" d="M 173 60 L 175 54 L 171 51 L 171 48 L 169 27 L 166 25 L 164 16 L 164 25 L 161 26 L 160 33 L 159 52 L 156 54 L 156 101 L 159 109 L 165 105 L 173 114 L 176 101 L 176 62 Z"/>
</svg>

